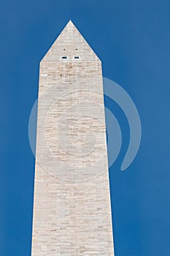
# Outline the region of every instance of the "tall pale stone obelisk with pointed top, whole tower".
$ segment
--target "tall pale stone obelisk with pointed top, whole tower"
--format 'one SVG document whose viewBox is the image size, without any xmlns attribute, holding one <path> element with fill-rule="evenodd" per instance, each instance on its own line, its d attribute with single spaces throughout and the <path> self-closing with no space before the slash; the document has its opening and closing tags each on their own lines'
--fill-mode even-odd
<svg viewBox="0 0 170 256">
<path fill-rule="evenodd" d="M 31 256 L 114 256 L 101 61 L 70 20 L 40 62 Z"/>
</svg>

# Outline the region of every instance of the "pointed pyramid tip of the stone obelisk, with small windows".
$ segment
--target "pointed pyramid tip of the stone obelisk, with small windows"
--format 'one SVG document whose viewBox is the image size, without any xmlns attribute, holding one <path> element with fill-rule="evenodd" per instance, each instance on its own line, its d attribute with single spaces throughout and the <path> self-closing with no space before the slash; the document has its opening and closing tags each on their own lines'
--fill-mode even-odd
<svg viewBox="0 0 170 256">
<path fill-rule="evenodd" d="M 55 40 L 51 48 L 47 51 L 42 61 L 93 61 L 98 60 L 88 42 L 82 37 L 80 31 L 72 20 L 64 27 L 61 34 Z"/>
</svg>

